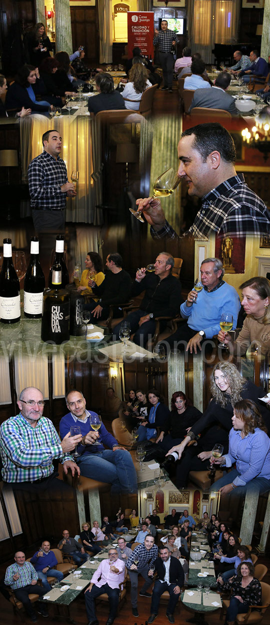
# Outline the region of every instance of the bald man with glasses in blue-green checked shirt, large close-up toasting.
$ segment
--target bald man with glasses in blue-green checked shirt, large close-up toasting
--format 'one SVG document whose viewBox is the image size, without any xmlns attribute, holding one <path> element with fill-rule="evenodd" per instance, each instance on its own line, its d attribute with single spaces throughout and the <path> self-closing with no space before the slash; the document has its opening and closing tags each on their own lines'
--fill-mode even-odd
<svg viewBox="0 0 270 625">
<path fill-rule="evenodd" d="M 2 479 L 15 490 L 46 491 L 69 489 L 57 479 L 54 460 L 63 462 L 64 472 L 79 467 L 70 452 L 81 441 L 81 435 L 66 434 L 61 442 L 50 419 L 43 417 L 44 398 L 35 387 L 21 391 L 17 401 L 19 414 L 1 425 L 0 452 Z"/>
</svg>

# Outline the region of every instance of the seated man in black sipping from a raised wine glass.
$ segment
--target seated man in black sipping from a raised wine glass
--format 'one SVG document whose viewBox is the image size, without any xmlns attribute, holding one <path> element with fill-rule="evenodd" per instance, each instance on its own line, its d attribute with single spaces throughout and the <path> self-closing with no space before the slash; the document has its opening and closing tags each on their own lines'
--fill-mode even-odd
<svg viewBox="0 0 270 625">
<path fill-rule="evenodd" d="M 130 312 L 126 321 L 130 323 L 133 341 L 137 345 L 146 347 L 156 329 L 155 317 L 175 317 L 181 304 L 181 283 L 171 275 L 174 259 L 169 252 L 161 252 L 156 257 L 155 271 L 146 274 L 146 267 L 136 272 L 131 296 L 138 296 L 145 291 L 141 307 L 138 311 Z M 161 321 L 161 331 L 166 327 L 166 321 Z M 113 331 L 113 339 L 118 341 L 119 323 Z"/>
</svg>

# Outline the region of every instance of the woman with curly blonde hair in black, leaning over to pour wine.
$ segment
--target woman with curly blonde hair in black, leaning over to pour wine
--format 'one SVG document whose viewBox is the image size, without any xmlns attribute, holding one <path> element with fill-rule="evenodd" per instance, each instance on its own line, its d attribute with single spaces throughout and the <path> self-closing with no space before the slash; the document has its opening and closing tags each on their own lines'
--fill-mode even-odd
<svg viewBox="0 0 270 625">
<path fill-rule="evenodd" d="M 211 457 L 211 449 L 216 443 L 224 447 L 224 452 L 228 451 L 229 431 L 232 425 L 232 416 L 236 402 L 241 399 L 251 399 L 259 406 L 264 424 L 270 431 L 269 409 L 259 401 L 259 397 L 264 396 L 264 390 L 256 386 L 253 382 L 247 382 L 241 376 L 234 364 L 231 362 L 217 362 L 212 369 L 211 379 L 212 398 L 204 411 L 201 419 L 198 419 L 189 430 L 184 440 L 168 451 L 178 452 L 181 462 L 177 463 L 176 486 L 178 488 L 186 486 L 189 471 L 204 471 L 207 468 L 208 460 Z M 199 438 L 199 435 L 202 436 Z M 199 444 L 190 447 L 181 459 L 184 448 L 189 441 L 199 439 Z M 198 453 L 199 452 L 199 453 Z"/>
</svg>

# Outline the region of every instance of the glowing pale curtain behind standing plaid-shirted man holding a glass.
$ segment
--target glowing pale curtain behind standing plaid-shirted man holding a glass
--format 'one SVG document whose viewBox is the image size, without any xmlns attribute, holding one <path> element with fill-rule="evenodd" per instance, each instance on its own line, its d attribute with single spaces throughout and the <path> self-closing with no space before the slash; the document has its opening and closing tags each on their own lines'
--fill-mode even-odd
<svg viewBox="0 0 270 625">
<path fill-rule="evenodd" d="M 63 138 L 61 158 L 66 163 L 69 180 L 73 169 L 79 171 L 77 196 L 67 199 L 66 221 L 99 225 L 103 222 L 103 214 L 96 208 L 96 204 L 101 203 L 102 179 L 97 171 L 93 172 L 93 157 L 95 168 L 101 168 L 101 144 L 99 134 L 96 135 L 93 130 L 94 121 L 91 121 L 89 116 L 80 115 L 73 118 L 71 123 L 66 117 L 54 118 L 53 127 Z M 39 114 L 23 119 L 20 125 L 21 168 L 24 181 L 27 181 L 29 163 L 42 153 L 42 134 L 47 129 L 47 117 Z M 94 143 L 95 141 L 98 141 L 98 145 Z M 24 209 L 24 213 L 23 216 L 30 214 L 29 205 L 27 212 Z"/>
</svg>

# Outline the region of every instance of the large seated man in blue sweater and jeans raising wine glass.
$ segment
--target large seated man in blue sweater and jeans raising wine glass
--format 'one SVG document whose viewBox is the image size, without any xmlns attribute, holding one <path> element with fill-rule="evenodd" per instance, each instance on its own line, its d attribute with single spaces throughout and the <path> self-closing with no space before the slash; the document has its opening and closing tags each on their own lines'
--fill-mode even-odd
<svg viewBox="0 0 270 625">
<path fill-rule="evenodd" d="M 76 389 L 68 391 L 66 404 L 70 412 L 60 421 L 60 436 L 64 437 L 75 424 L 81 428 L 83 437 L 78 444 L 80 455 L 77 459 L 81 474 L 110 482 L 112 493 L 137 492 L 137 476 L 131 454 L 119 446 L 96 412 L 86 410 L 83 393 Z M 98 430 L 95 429 L 97 425 Z M 104 449 L 104 444 L 109 449 Z"/>
</svg>

